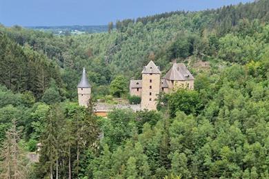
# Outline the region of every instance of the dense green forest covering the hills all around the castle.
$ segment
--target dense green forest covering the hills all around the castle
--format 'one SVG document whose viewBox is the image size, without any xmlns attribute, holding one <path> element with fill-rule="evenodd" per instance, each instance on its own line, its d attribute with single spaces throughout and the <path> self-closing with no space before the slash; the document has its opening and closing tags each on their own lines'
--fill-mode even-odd
<svg viewBox="0 0 269 179">
<path fill-rule="evenodd" d="M 76 36 L 0 25 L 0 178 L 269 178 L 268 10 L 167 12 Z M 130 97 L 150 60 L 162 74 L 185 63 L 195 90 L 95 116 L 97 100 Z"/>
</svg>

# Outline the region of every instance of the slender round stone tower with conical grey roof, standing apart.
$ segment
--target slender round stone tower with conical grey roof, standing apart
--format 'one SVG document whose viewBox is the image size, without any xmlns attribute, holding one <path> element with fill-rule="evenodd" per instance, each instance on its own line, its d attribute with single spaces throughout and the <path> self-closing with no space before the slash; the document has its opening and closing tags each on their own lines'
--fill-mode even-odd
<svg viewBox="0 0 269 179">
<path fill-rule="evenodd" d="M 79 85 L 77 85 L 77 94 L 79 97 L 79 105 L 88 107 L 90 100 L 91 85 L 88 82 L 85 68 L 83 67 L 83 72 Z"/>
</svg>

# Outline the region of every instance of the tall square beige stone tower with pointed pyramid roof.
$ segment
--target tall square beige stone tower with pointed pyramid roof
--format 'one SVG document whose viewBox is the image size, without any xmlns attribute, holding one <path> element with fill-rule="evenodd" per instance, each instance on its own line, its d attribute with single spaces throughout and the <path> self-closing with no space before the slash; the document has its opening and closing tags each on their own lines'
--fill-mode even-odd
<svg viewBox="0 0 269 179">
<path fill-rule="evenodd" d="M 160 93 L 161 72 L 153 61 L 143 67 L 141 109 L 156 110 L 157 95 Z"/>
</svg>

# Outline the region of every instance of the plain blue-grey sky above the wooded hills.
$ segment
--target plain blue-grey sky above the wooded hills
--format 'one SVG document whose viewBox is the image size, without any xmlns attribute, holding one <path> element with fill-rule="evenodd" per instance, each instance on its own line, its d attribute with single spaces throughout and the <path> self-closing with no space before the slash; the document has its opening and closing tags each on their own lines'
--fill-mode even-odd
<svg viewBox="0 0 269 179">
<path fill-rule="evenodd" d="M 6 26 L 107 25 L 175 10 L 206 10 L 251 0 L 0 0 Z"/>
</svg>

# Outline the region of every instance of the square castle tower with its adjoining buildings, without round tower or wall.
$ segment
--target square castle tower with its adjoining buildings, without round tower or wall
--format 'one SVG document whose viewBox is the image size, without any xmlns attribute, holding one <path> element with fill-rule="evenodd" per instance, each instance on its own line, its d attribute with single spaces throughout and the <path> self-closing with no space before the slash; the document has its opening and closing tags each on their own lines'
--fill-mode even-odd
<svg viewBox="0 0 269 179">
<path fill-rule="evenodd" d="M 156 110 L 156 99 L 160 92 L 168 93 L 179 87 L 193 89 L 192 74 L 183 63 L 174 63 L 161 78 L 161 71 L 153 61 L 143 67 L 142 80 L 130 81 L 130 95 L 141 97 L 141 109 Z"/>
</svg>

